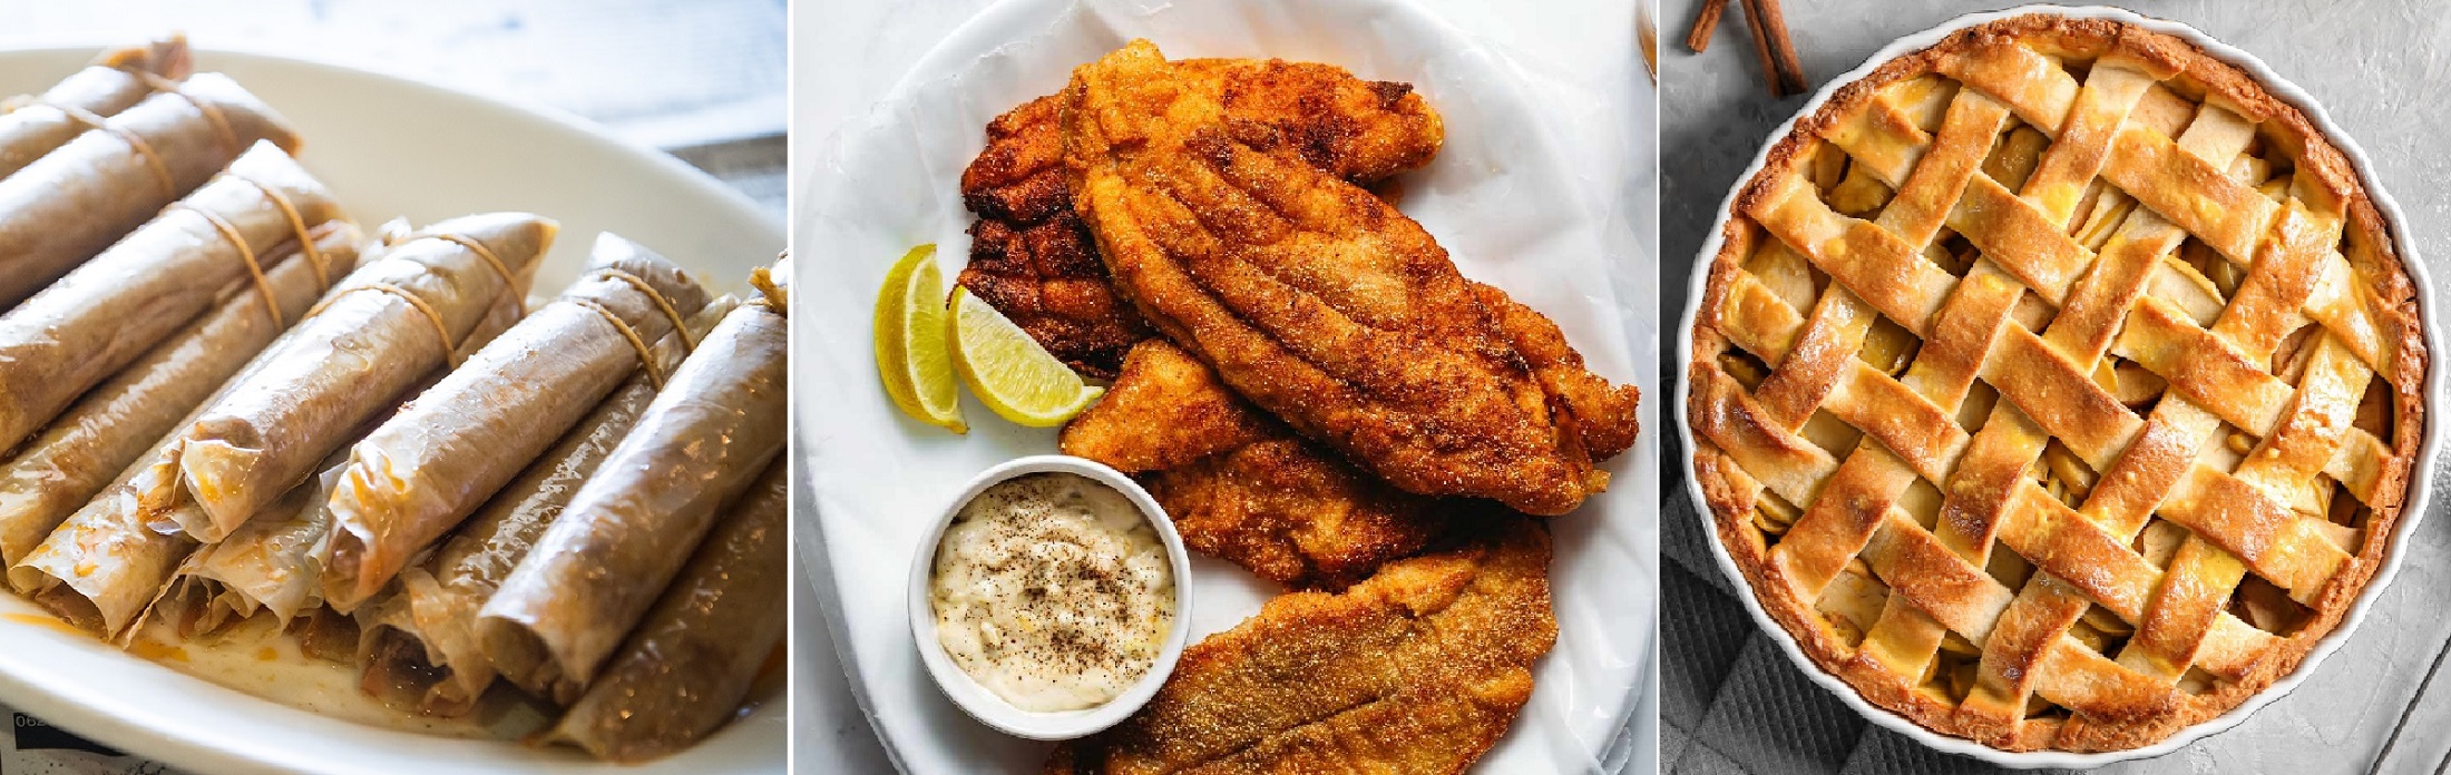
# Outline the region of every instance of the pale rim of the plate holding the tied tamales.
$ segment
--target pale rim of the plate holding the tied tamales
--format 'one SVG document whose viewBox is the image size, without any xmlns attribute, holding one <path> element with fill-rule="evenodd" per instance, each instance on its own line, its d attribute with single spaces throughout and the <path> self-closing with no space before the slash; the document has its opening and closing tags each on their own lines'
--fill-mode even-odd
<svg viewBox="0 0 2451 775">
<path fill-rule="evenodd" d="M 120 44 L 120 42 L 96 42 L 96 44 L 86 44 L 86 47 L 44 42 L 44 44 L 34 44 L 34 47 L 0 49 L 0 56 L 7 56 L 7 59 L 20 59 L 20 56 L 25 56 L 25 59 L 54 56 L 54 59 L 61 59 L 61 61 L 83 61 L 83 59 L 91 59 L 93 52 L 108 49 L 113 44 Z M 603 128 L 598 123 L 591 123 L 586 118 L 578 118 L 576 113 L 569 113 L 569 110 L 561 110 L 561 108 L 537 105 L 537 103 L 515 103 L 515 101 L 507 101 L 507 98 L 500 98 L 500 96 L 458 91 L 458 88 L 449 88 L 449 86 L 439 86 L 439 83 L 429 83 L 429 81 L 404 78 L 404 76 L 382 74 L 382 71 L 368 71 L 368 69 L 348 66 L 348 64 L 333 64 L 333 61 L 289 56 L 289 54 L 265 52 L 265 49 L 255 49 L 255 47 L 196 47 L 196 44 L 191 44 L 191 52 L 194 52 L 194 56 L 199 61 L 199 71 L 218 71 L 223 66 L 230 66 L 230 69 L 297 69 L 297 71 L 306 71 L 306 74 L 321 76 L 321 78 L 353 78 L 353 81 L 365 81 L 365 83 L 382 83 L 382 88 L 400 88 L 402 93 L 414 93 L 424 103 L 461 103 L 461 105 L 468 105 L 468 108 L 475 108 L 475 110 L 485 110 L 485 113 L 495 113 L 495 115 L 502 115 L 502 118 L 515 118 L 515 120 L 522 120 L 522 123 L 539 123 L 539 125 L 549 128 L 547 132 L 551 132 L 551 140 L 586 142 L 586 145 L 591 145 L 598 152 L 618 155 L 618 157 L 625 157 L 630 162 L 637 162 L 645 169 L 652 169 L 652 174 L 662 184 L 684 186 L 689 199 L 721 201 L 721 208 L 738 211 L 740 216 L 745 216 L 745 221 L 760 223 L 762 233 L 755 235 L 757 240 L 772 243 L 772 245 L 782 245 L 784 243 L 784 231 L 782 231 L 779 218 L 765 213 L 745 194 L 725 186 L 723 181 L 713 179 L 711 174 L 706 174 L 706 172 L 701 172 L 696 167 L 689 167 L 686 162 L 681 162 L 681 159 L 676 159 L 676 157 L 672 157 L 672 155 L 667 155 L 662 150 L 630 142 L 630 140 L 625 140 L 620 135 L 613 135 L 608 128 Z M 59 74 L 66 76 L 71 69 L 61 69 Z M 275 103 L 272 110 L 275 113 L 284 113 L 284 105 Z M 314 155 L 314 145 L 316 145 L 316 137 L 306 137 L 306 147 L 309 147 L 306 155 Z M 343 206 L 348 206 L 348 201 L 343 201 Z M 370 213 L 353 213 L 353 216 L 365 218 Z M 551 218 L 554 213 L 542 213 L 542 216 Z M 360 221 L 360 228 L 373 228 L 373 223 Z M 559 235 L 559 240 L 571 240 L 571 238 L 581 238 L 581 235 L 574 235 L 569 231 L 564 231 Z M 681 262 L 691 262 L 689 258 L 679 258 L 679 260 Z M 691 272 L 691 275 L 699 275 L 699 272 Z M 725 284 L 735 282 L 735 277 L 701 277 L 701 280 L 708 282 L 711 287 L 725 287 Z M 547 292 L 551 292 L 551 289 L 547 289 Z M 15 594 L 7 594 L 7 596 L 15 598 Z M 88 635 L 76 635 L 76 638 L 88 638 Z M 211 684 L 211 682 L 203 682 L 203 679 L 196 679 L 196 677 L 186 677 L 186 674 L 181 674 L 176 670 L 152 665 L 152 662 L 147 662 L 142 657 L 135 657 L 135 655 L 127 655 L 125 660 L 145 662 L 152 670 L 159 670 L 169 679 L 194 682 L 203 692 L 228 694 L 228 701 L 235 704 L 235 706 L 240 706 L 240 709 L 255 706 L 255 709 L 262 709 L 267 714 L 306 714 L 306 711 L 299 711 L 299 709 L 292 709 L 292 706 L 282 706 L 282 704 L 275 704 L 275 701 L 267 701 L 267 699 L 260 699 L 260 697 L 252 697 L 252 694 L 245 694 L 245 692 L 238 692 L 238 689 L 225 689 L 225 687 L 218 687 L 218 684 Z M 211 736 L 194 733 L 196 726 L 201 726 L 201 723 L 169 726 L 169 728 L 132 723 L 132 721 L 127 721 L 127 714 L 130 711 L 140 711 L 140 706 L 132 699 L 120 699 L 120 697 L 103 699 L 105 694 L 118 694 L 118 689 L 123 689 L 123 687 L 78 687 L 74 679 L 51 674 L 49 670 L 44 670 L 44 665 L 17 665 L 17 662 L 12 662 L 7 657 L 0 657 L 0 699 L 5 699 L 17 711 L 39 716 L 47 723 L 69 728 L 69 731 L 74 731 L 78 736 L 86 736 L 86 738 L 93 738 L 98 743 L 108 743 L 108 746 L 113 746 L 118 750 L 125 750 L 125 753 L 132 753 L 132 755 L 142 755 L 142 758 L 152 758 L 152 760 L 162 760 L 162 763 L 181 768 L 181 770 L 191 770 L 191 773 L 331 773 L 331 770 L 346 765 L 350 770 L 382 773 L 382 770 L 390 770 L 395 765 L 414 765 L 414 760 L 387 760 L 387 763 L 368 763 L 368 760 L 338 763 L 338 760 L 324 760 L 324 758 L 301 755 L 301 753 L 294 753 L 294 750 L 272 748 L 272 746 L 265 746 L 262 741 L 250 741 L 250 738 L 243 738 L 243 736 L 211 738 Z M 708 741 L 701 741 L 701 748 L 703 746 L 721 746 L 728 736 L 735 736 L 738 731 L 743 731 L 748 726 L 760 726 L 760 728 L 762 726 L 787 726 L 787 721 L 779 719 L 779 716 L 787 714 L 787 709 L 777 706 L 777 701 L 787 701 L 787 699 L 789 699 L 789 692 L 787 689 L 777 689 L 775 699 L 767 701 L 760 711 L 755 711 L 750 719 L 735 721 L 730 728 L 718 731 Z M 500 741 L 498 743 L 498 741 L 439 738 L 439 736 L 390 731 L 390 728 L 377 728 L 377 726 L 360 726 L 360 723 L 348 723 L 348 721 L 341 721 L 341 723 L 346 723 L 353 731 L 363 731 L 368 738 L 404 738 L 404 741 L 400 741 L 402 743 L 400 748 L 414 748 L 417 743 L 453 746 L 453 748 L 458 748 L 458 746 L 485 746 L 485 748 L 500 746 L 505 753 L 525 753 L 525 755 L 517 755 L 517 758 L 500 760 L 500 765 L 495 770 L 502 770 L 502 773 L 598 773 L 598 770 L 652 773 L 652 770 L 657 770 L 657 765 L 647 765 L 647 768 L 630 765 L 630 768 L 625 768 L 625 765 L 596 763 L 596 760 L 588 760 L 583 753 L 576 753 L 576 748 L 559 748 L 554 755 L 539 758 L 537 753 L 529 750 L 529 746 L 522 746 L 517 741 Z M 748 741 L 748 738 L 743 738 L 743 741 Z M 784 765 L 784 748 L 779 746 L 782 741 L 775 741 L 775 743 L 777 743 L 775 746 L 777 750 L 772 755 L 772 765 L 782 768 Z"/>
</svg>

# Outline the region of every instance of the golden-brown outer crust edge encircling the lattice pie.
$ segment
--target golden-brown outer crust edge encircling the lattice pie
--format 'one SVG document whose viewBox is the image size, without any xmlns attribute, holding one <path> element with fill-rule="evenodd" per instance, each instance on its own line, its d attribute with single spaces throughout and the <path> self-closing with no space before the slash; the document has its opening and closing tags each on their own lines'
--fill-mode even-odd
<svg viewBox="0 0 2451 775">
<path fill-rule="evenodd" d="M 1990 746 L 2007 750 L 2142 748 L 2186 726 L 2221 716 L 2257 692 L 2265 692 L 2275 679 L 2294 672 L 2299 662 L 2306 660 L 2309 650 L 2338 625 L 2338 620 L 2355 603 L 2358 594 L 2373 579 L 2375 569 L 2382 567 L 2385 554 L 2392 549 L 2392 530 L 2397 527 L 2402 498 L 2412 476 L 2412 459 L 2417 456 L 2417 446 L 2424 434 L 2426 348 L 2419 329 L 2414 287 L 2402 267 L 2402 258 L 2395 250 L 2390 233 L 2392 226 L 2382 221 L 2382 213 L 2375 208 L 2375 201 L 2368 196 L 2365 184 L 2348 157 L 2297 105 L 2272 96 L 2255 76 L 2186 39 L 2113 20 L 2022 15 L 1953 32 L 1929 49 L 1875 66 L 1863 78 L 1838 86 L 1814 115 L 1801 115 L 1792 132 L 1779 137 L 1765 152 L 1762 172 L 1743 181 L 1743 189 L 1733 199 L 1733 206 L 1721 226 L 1723 245 L 1706 270 L 1708 280 L 1699 302 L 1701 314 L 1696 316 L 1691 331 L 1694 346 L 1689 351 L 1691 361 L 1686 380 L 1694 388 L 1686 417 L 1691 424 L 1701 427 L 1701 422 L 1716 412 L 1701 385 L 1708 380 L 1726 380 L 1726 375 L 1718 373 L 1716 358 L 1730 351 L 1733 343 L 1728 334 L 1718 329 L 1713 311 L 1721 309 L 1721 302 L 1730 292 L 1730 282 L 1738 277 L 1745 258 L 1752 255 L 1755 243 L 1762 238 L 1760 228 L 1745 213 L 1752 213 L 1770 201 L 1779 172 L 1804 164 L 1814 142 L 1819 142 L 1826 130 L 1836 128 L 1846 115 L 1863 110 L 1875 96 L 1882 93 L 1882 88 L 1934 74 L 1944 56 L 2000 42 L 2022 42 L 2034 49 L 2071 56 L 2103 56 L 2113 52 L 2135 56 L 2147 66 L 2176 71 L 2176 78 L 2164 83 L 2201 91 L 2203 98 L 2218 101 L 2233 113 L 2262 123 L 2265 137 L 2277 135 L 2282 142 L 2294 142 L 2297 147 L 2289 150 L 2299 164 L 2299 174 L 2331 189 L 2346 208 L 2343 228 L 2351 250 L 2343 250 L 2343 255 L 2351 260 L 2358 280 L 2365 282 L 2365 292 L 2373 294 L 2370 309 L 2375 314 L 2375 324 L 2382 329 L 2382 346 L 2387 348 L 2380 378 L 2395 385 L 2395 422 L 2390 432 L 2392 454 L 2375 486 L 2375 493 L 2380 495 L 2370 503 L 2373 513 L 2363 525 L 2365 540 L 2355 552 L 2355 562 L 2321 586 L 2321 594 L 2316 594 L 2309 606 L 2314 613 L 2297 633 L 2275 643 L 2243 677 L 2221 682 L 2206 694 L 2186 697 L 2164 714 L 2135 719 L 2132 723 L 2103 723 L 2083 716 L 2064 723 L 2022 723 L 2015 741 L 1988 741 Z M 1858 652 L 1858 647 L 1848 645 L 1848 640 L 1831 628 L 1824 613 L 1814 608 L 1814 601 L 1797 598 L 1787 591 L 1787 579 L 1772 564 L 1770 544 L 1765 542 L 1762 530 L 1752 522 L 1752 493 L 1757 493 L 1760 486 L 1723 449 L 1703 439 L 1701 432 L 1696 432 L 1694 446 L 1694 483 L 1711 510 L 1721 547 L 1745 576 L 1745 584 L 1760 608 L 1777 620 L 1782 630 L 1794 635 L 1801 652 L 1824 672 L 1851 684 L 1875 706 L 1890 709 L 1917 726 L 1939 733 L 1976 736 L 1958 719 L 1958 709 L 1951 701 L 1917 692 L 1897 674 L 1873 665 Z"/>
</svg>

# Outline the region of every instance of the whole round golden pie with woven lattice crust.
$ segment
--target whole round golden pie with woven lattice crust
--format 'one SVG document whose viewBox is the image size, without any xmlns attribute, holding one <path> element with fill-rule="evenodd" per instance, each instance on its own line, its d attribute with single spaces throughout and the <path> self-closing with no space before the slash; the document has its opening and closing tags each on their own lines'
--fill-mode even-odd
<svg viewBox="0 0 2451 775">
<path fill-rule="evenodd" d="M 2176 37 L 2012 17 L 1838 88 L 1745 181 L 1694 473 L 1868 701 L 2140 748 L 2297 670 L 2382 562 L 2417 321 L 2294 105 Z"/>
</svg>

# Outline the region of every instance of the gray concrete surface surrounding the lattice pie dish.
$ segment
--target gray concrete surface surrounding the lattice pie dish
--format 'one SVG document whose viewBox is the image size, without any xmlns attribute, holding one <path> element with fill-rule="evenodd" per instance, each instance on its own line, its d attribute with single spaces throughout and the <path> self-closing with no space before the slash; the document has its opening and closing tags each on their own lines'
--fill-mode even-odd
<svg viewBox="0 0 2451 775">
<path fill-rule="evenodd" d="M 1863 64 L 1882 44 L 1963 12 L 2012 2 L 1787 0 L 1789 32 L 1814 88 Z M 1730 7 L 1708 54 L 1684 49 L 1699 0 L 1662 5 L 1662 307 L 1674 336 L 1686 307 L 1694 253 L 1735 174 L 1770 130 L 1804 98 L 1772 101 L 1752 59 L 1740 10 Z M 2451 155 L 2439 130 L 2451 108 L 2434 86 L 2451 71 L 2451 22 L 2441 2 L 2130 2 L 2189 22 L 2265 59 L 2304 86 L 2365 147 L 2400 223 L 2422 258 L 2451 258 L 2441 186 Z M 2434 289 L 2451 297 L 2451 267 Z M 1676 365 L 1662 363 L 1662 385 Z M 1662 390 L 1667 392 L 1667 390 Z M 1681 412 L 1681 410 L 1679 410 Z M 1674 422 L 1674 419 L 1669 419 Z M 1664 461 L 1684 461 L 1667 434 Z M 1667 773 L 1980 773 L 1966 758 L 1931 753 L 1860 721 L 1806 682 L 1730 596 L 1706 554 L 1681 464 L 1662 493 L 1662 768 Z M 2446 468 L 2436 464 L 2436 481 Z M 2179 753 L 2108 773 L 2441 773 L 2451 750 L 2451 677 L 2419 692 L 2451 640 L 2451 517 L 2441 500 L 2404 547 L 2407 564 L 2358 635 L 2294 694 L 2248 723 Z M 2422 694 L 2422 697 L 2419 697 Z M 2392 741 L 2395 728 L 2404 728 Z"/>
</svg>

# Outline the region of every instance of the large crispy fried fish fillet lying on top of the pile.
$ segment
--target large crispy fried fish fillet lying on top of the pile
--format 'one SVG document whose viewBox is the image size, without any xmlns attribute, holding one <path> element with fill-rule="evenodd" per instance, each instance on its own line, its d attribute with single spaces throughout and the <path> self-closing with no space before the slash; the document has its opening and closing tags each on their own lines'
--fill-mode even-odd
<svg viewBox="0 0 2451 775">
<path fill-rule="evenodd" d="M 1409 493 L 1561 515 L 1608 486 L 1419 223 L 1150 42 L 1066 98 L 1066 184 L 1115 289 L 1235 392 Z"/>
</svg>

